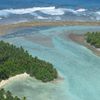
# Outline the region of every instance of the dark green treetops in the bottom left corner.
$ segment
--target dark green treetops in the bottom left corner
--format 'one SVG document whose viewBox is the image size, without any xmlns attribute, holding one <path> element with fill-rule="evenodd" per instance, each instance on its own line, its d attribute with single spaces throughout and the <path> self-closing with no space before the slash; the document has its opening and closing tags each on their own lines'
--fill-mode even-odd
<svg viewBox="0 0 100 100">
<path fill-rule="evenodd" d="M 12 96 L 11 92 L 5 91 L 4 89 L 0 90 L 0 100 L 26 100 L 25 97 L 22 99 L 18 98 L 17 96 Z"/>
</svg>

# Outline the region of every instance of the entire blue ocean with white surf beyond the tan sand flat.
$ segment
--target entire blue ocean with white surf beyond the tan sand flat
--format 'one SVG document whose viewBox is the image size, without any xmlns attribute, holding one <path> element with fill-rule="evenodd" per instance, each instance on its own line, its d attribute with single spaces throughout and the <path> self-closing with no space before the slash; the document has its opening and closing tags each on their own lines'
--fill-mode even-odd
<svg viewBox="0 0 100 100">
<path fill-rule="evenodd" d="M 99 0 L 0 0 L 0 23 L 99 21 Z"/>
</svg>

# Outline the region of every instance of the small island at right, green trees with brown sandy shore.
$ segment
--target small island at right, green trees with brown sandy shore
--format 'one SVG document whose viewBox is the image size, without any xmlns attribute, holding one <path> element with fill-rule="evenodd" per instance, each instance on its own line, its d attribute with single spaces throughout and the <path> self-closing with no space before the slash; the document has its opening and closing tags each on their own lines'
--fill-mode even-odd
<svg viewBox="0 0 100 100">
<path fill-rule="evenodd" d="M 90 49 L 94 54 L 100 56 L 100 32 L 86 32 L 84 34 L 69 34 L 69 38 Z"/>
</svg>

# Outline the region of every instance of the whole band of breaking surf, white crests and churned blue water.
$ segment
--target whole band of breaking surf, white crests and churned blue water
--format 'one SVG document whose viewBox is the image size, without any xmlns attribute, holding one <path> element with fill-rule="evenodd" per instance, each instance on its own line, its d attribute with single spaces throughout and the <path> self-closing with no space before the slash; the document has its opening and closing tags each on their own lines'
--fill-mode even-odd
<svg viewBox="0 0 100 100">
<path fill-rule="evenodd" d="M 55 6 L 50 7 L 32 7 L 32 8 L 21 8 L 21 9 L 3 9 L 0 10 L 0 19 L 7 18 L 13 15 L 31 15 L 35 19 L 47 20 L 54 19 L 60 20 L 62 16 L 71 15 L 81 16 L 81 17 L 90 17 L 90 19 L 100 20 L 100 11 L 91 11 L 85 8 L 72 9 L 72 8 L 56 8 Z"/>
</svg>

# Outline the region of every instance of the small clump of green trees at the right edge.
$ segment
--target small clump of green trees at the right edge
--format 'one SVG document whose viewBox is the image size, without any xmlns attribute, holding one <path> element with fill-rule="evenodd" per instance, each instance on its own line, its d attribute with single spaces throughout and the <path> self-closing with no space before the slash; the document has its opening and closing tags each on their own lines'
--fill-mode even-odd
<svg viewBox="0 0 100 100">
<path fill-rule="evenodd" d="M 96 48 L 100 48 L 100 32 L 88 32 L 85 34 L 86 41 Z"/>
</svg>

